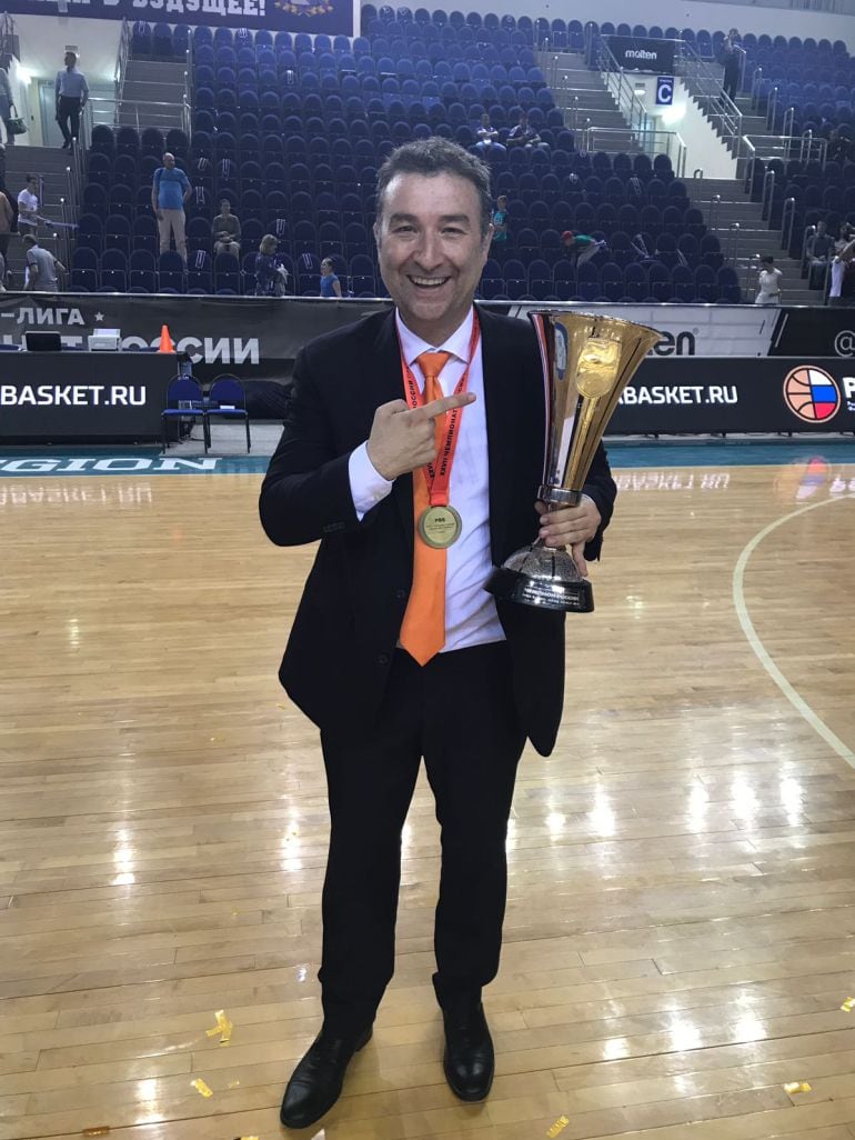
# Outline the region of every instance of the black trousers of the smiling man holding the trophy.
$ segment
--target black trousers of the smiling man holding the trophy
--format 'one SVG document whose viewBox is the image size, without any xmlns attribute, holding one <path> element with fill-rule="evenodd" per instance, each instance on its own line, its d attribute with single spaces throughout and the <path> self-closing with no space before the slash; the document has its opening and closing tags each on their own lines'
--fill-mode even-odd
<svg viewBox="0 0 855 1140">
<path fill-rule="evenodd" d="M 397 650 L 375 728 L 321 733 L 331 814 L 318 978 L 326 1024 L 374 1020 L 394 971 L 401 829 L 422 757 L 441 826 L 434 923 L 441 1007 L 478 1001 L 498 970 L 505 838 L 524 744 L 504 642 L 418 666 Z"/>
</svg>

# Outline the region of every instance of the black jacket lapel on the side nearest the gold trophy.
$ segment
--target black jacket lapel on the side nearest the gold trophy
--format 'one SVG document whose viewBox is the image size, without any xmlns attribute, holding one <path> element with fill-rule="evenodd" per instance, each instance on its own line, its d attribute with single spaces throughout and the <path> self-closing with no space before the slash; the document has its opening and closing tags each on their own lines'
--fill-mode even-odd
<svg viewBox="0 0 855 1140">
<path fill-rule="evenodd" d="M 487 414 L 487 454 L 490 479 L 490 552 L 502 564 L 507 513 L 514 478 L 514 425 L 520 398 L 519 377 L 502 343 L 502 326 L 489 312 L 478 310 L 481 321 L 481 357 Z"/>
</svg>

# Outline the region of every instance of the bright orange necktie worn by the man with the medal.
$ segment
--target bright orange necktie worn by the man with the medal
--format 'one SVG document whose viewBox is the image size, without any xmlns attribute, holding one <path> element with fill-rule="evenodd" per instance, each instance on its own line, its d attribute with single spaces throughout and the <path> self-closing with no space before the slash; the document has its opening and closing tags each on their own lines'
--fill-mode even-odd
<svg viewBox="0 0 855 1140">
<path fill-rule="evenodd" d="M 450 358 L 450 352 L 423 352 L 416 357 L 424 376 L 425 404 L 442 398 L 438 376 Z M 446 416 L 437 416 L 433 424 L 439 450 L 446 433 Z M 418 520 L 430 502 L 424 469 L 420 467 L 413 472 L 413 588 L 400 634 L 401 645 L 420 665 L 426 665 L 446 644 L 446 551 L 429 546 L 418 534 Z"/>
</svg>

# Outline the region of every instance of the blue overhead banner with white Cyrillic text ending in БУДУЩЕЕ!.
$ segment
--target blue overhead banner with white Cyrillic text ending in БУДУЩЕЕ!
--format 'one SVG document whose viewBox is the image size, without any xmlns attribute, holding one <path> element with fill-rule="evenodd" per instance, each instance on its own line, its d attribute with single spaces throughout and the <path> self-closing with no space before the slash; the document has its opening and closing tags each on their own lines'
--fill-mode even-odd
<svg viewBox="0 0 855 1140">
<path fill-rule="evenodd" d="M 57 0 L 3 0 L 11 15 L 57 16 Z M 358 35 L 359 0 L 67 0 L 62 15 L 133 23 L 264 27 L 271 32 Z"/>
</svg>

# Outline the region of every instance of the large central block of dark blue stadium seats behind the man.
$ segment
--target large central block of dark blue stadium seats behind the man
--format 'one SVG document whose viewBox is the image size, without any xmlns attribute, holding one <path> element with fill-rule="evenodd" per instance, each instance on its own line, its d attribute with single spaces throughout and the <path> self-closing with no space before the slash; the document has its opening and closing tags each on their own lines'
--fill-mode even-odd
<svg viewBox="0 0 855 1140">
<path fill-rule="evenodd" d="M 138 55 L 189 50 L 193 136 L 93 130 L 72 287 L 252 293 L 259 242 L 272 233 L 291 292 L 317 295 L 319 259 L 329 256 L 351 295 L 385 295 L 370 228 L 386 155 L 431 135 L 471 148 L 484 113 L 504 140 L 526 109 L 548 147 L 490 157 L 494 193 L 508 197 L 508 239 L 494 243 L 484 299 L 740 300 L 667 157 L 575 149 L 534 46 L 581 48 L 579 22 L 366 6 L 361 32 L 201 27 L 190 41 L 186 28 L 135 25 Z M 158 254 L 150 186 L 164 150 L 193 184 L 186 270 L 172 251 Z M 241 220 L 241 260 L 212 253 L 223 197 Z M 562 245 L 568 229 L 604 243 L 578 268 Z"/>
</svg>

